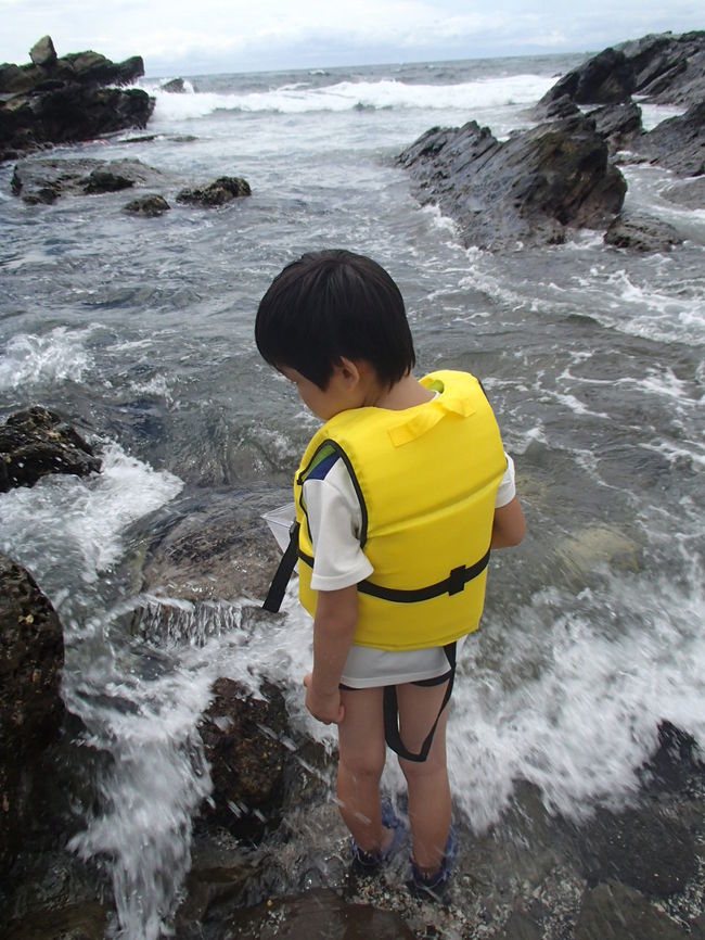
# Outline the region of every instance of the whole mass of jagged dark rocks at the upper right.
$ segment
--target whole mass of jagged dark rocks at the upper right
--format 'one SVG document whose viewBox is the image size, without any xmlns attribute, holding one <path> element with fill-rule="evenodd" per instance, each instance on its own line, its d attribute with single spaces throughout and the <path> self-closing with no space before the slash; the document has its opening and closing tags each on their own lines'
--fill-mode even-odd
<svg viewBox="0 0 705 940">
<path fill-rule="evenodd" d="M 458 224 L 465 245 L 491 251 L 605 231 L 638 251 L 678 237 L 657 219 L 621 215 L 619 164 L 650 162 L 678 177 L 705 174 L 705 33 L 649 36 L 606 49 L 561 78 L 533 111 L 538 126 L 498 141 L 487 127 L 432 128 L 398 157 L 423 203 Z M 644 131 L 632 100 L 688 110 Z M 705 205 L 700 195 L 697 205 Z M 645 230 L 649 237 L 645 237 Z"/>
</svg>

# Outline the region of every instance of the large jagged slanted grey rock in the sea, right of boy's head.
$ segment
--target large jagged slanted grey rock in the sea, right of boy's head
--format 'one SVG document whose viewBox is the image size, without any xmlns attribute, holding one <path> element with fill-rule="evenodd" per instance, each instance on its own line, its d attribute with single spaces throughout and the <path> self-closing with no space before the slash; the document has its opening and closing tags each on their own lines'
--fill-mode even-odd
<svg viewBox="0 0 705 940">
<path fill-rule="evenodd" d="M 568 226 L 604 228 L 627 185 L 584 116 L 541 124 L 503 143 L 475 122 L 433 128 L 399 162 L 418 198 L 458 223 L 465 245 L 562 242 Z"/>
</svg>

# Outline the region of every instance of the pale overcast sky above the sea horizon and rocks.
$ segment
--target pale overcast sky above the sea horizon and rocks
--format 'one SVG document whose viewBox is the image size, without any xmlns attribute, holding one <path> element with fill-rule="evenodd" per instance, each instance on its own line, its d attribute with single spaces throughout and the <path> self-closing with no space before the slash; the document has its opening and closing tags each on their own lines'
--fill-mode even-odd
<svg viewBox="0 0 705 940">
<path fill-rule="evenodd" d="M 705 28 L 703 0 L 0 0 L 0 62 L 142 55 L 146 74 L 599 51 Z"/>
</svg>

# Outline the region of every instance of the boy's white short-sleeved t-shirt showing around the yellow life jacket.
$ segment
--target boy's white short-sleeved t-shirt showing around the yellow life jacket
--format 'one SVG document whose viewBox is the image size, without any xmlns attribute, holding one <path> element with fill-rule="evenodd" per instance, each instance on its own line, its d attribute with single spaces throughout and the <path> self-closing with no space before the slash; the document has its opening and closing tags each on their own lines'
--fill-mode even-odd
<svg viewBox="0 0 705 940">
<path fill-rule="evenodd" d="M 515 494 L 514 462 L 508 455 L 495 506 L 507 506 Z M 313 542 L 313 590 L 338 590 L 369 577 L 374 569 L 360 547 L 362 516 L 345 462 L 336 460 L 323 479 L 306 480 L 304 500 Z M 448 669 L 443 647 L 389 651 L 354 644 L 342 682 L 351 688 L 399 685 L 435 678 Z"/>
</svg>

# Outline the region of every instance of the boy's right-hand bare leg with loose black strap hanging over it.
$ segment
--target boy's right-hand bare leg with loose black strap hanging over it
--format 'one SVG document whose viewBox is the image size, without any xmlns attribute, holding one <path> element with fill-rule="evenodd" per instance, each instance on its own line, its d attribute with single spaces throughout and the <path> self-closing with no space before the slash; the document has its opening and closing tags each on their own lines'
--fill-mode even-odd
<svg viewBox="0 0 705 940">
<path fill-rule="evenodd" d="M 397 686 L 399 732 L 405 747 L 418 753 L 438 714 L 446 693 L 438 686 Z M 423 763 L 399 758 L 409 790 L 409 823 L 413 858 L 424 874 L 435 874 L 441 864 L 451 818 L 450 784 L 446 766 L 448 707 L 438 721 L 427 759 Z"/>
</svg>

